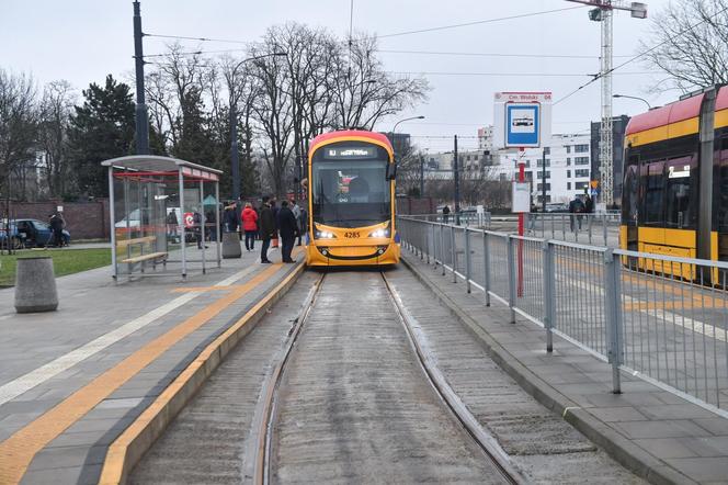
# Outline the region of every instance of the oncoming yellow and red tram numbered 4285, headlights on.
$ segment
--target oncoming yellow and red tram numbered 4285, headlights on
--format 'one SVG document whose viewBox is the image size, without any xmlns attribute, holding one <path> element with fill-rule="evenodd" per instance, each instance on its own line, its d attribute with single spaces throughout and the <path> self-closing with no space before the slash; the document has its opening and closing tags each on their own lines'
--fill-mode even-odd
<svg viewBox="0 0 728 485">
<path fill-rule="evenodd" d="M 319 135 L 311 142 L 307 264 L 399 262 L 396 167 L 389 139 L 378 133 L 341 131 Z"/>
</svg>

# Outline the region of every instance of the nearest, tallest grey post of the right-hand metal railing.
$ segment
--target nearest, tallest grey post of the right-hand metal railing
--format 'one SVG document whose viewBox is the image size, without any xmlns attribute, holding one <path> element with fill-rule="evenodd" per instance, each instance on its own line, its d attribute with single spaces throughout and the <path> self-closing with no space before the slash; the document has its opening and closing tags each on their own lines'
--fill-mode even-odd
<svg viewBox="0 0 728 485">
<path fill-rule="evenodd" d="M 614 256 L 613 249 L 604 252 L 604 308 L 606 316 L 607 332 L 607 358 L 612 364 L 612 392 L 622 394 L 622 382 L 619 376 L 619 365 L 622 364 L 622 339 L 623 325 L 622 319 L 622 290 L 621 290 L 619 257 Z"/>
</svg>

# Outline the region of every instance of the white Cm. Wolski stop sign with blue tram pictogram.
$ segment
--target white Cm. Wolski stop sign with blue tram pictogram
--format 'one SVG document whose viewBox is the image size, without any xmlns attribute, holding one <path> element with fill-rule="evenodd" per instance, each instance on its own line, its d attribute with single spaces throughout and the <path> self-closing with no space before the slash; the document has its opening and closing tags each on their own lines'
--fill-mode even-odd
<svg viewBox="0 0 728 485">
<path fill-rule="evenodd" d="M 494 148 L 537 148 L 551 137 L 550 92 L 497 92 Z"/>
</svg>

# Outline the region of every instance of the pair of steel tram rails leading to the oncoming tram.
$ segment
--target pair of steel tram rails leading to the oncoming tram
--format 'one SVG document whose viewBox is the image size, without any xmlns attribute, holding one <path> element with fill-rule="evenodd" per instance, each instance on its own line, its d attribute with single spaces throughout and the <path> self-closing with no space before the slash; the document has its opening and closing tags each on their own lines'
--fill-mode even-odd
<svg viewBox="0 0 728 485">
<path fill-rule="evenodd" d="M 391 314 L 396 315 L 396 319 L 401 324 L 414 361 L 420 368 L 422 377 L 426 381 L 426 386 L 433 391 L 436 401 L 440 403 L 440 408 L 443 410 L 446 409 L 446 413 L 450 414 L 448 419 L 456 424 L 460 435 L 467 437 L 466 440 L 475 443 L 476 448 L 481 452 L 481 459 L 485 459 L 488 463 L 488 467 L 493 473 L 500 475 L 500 480 L 493 481 L 493 483 L 527 483 L 511 464 L 508 454 L 502 450 L 498 441 L 480 426 L 477 418 L 473 416 L 459 396 L 450 386 L 443 373 L 437 368 L 436 359 L 429 348 L 426 339 L 421 335 L 417 320 L 402 303 L 402 298 L 397 290 L 387 281 L 386 274 L 384 272 L 378 274 L 371 273 L 371 277 L 376 277 L 380 280 L 380 289 L 384 290 L 384 293 L 388 297 L 393 309 Z M 288 365 L 295 354 L 299 337 L 305 332 L 306 324 L 317 306 L 318 296 L 323 287 L 326 278 L 326 274 L 321 275 L 309 292 L 277 359 L 277 364 L 265 384 L 263 398 L 260 402 L 261 410 L 257 413 L 259 416 L 255 424 L 257 430 L 253 430 L 255 439 L 250 442 L 251 448 L 254 442 L 255 450 L 253 473 L 255 484 L 269 484 L 275 475 L 275 471 L 273 470 L 275 461 L 274 433 L 280 413 L 281 390 L 284 385 L 286 373 L 289 371 Z M 345 325 L 345 323 L 342 325 Z M 380 456 L 379 459 L 387 460 L 388 456 Z"/>
</svg>

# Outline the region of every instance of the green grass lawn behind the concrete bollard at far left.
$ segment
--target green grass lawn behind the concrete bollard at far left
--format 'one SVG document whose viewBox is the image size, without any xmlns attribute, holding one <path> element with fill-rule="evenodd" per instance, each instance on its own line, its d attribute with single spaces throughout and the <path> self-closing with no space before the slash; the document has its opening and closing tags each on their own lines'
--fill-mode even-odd
<svg viewBox="0 0 728 485">
<path fill-rule="evenodd" d="M 105 248 L 41 251 L 25 249 L 12 256 L 0 256 L 0 286 L 13 286 L 15 284 L 15 260 L 31 256 L 50 256 L 56 277 L 73 274 L 111 264 L 111 250 Z"/>
</svg>

